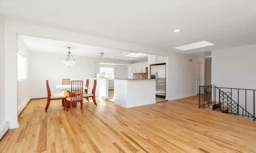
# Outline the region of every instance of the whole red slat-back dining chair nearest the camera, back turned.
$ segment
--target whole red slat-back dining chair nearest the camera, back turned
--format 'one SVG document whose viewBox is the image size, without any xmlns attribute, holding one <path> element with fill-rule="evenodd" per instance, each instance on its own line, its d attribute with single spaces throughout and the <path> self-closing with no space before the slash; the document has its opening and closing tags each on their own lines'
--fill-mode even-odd
<svg viewBox="0 0 256 153">
<path fill-rule="evenodd" d="M 82 114 L 83 114 L 83 81 L 71 81 L 71 95 L 76 95 L 74 97 L 68 97 L 66 98 L 66 101 L 64 103 L 64 109 L 66 106 L 70 106 L 70 111 L 72 115 L 72 105 L 73 103 L 80 102 L 81 104 L 81 109 L 82 109 Z M 81 93 L 81 94 L 78 94 Z M 68 111 L 68 107 L 67 111 Z"/>
</svg>

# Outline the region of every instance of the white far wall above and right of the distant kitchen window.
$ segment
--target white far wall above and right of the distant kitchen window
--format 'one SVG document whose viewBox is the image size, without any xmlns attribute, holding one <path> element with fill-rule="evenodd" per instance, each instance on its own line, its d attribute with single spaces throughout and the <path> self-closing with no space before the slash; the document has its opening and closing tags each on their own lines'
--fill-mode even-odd
<svg viewBox="0 0 256 153">
<path fill-rule="evenodd" d="M 126 79 L 127 78 L 127 66 L 124 65 L 100 65 L 100 67 L 112 67 L 114 68 L 114 79 Z M 114 80 L 109 79 L 109 88 L 114 89 Z"/>
</svg>

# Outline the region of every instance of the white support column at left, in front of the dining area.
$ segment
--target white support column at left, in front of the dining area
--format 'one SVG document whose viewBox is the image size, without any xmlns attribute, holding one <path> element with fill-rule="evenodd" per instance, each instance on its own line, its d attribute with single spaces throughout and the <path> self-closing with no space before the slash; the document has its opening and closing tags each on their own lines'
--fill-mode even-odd
<svg viewBox="0 0 256 153">
<path fill-rule="evenodd" d="M 17 114 L 17 39 L 16 25 L 5 20 L 5 118 L 10 129 L 19 127 Z"/>
</svg>

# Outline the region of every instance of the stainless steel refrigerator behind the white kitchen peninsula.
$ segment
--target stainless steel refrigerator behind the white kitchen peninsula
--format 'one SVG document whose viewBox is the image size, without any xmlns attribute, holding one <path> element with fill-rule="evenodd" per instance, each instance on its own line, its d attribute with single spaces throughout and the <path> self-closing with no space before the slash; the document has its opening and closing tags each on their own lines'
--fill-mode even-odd
<svg viewBox="0 0 256 153">
<path fill-rule="evenodd" d="M 156 97 L 166 97 L 166 65 L 151 66 L 151 78 L 156 80 Z"/>
</svg>

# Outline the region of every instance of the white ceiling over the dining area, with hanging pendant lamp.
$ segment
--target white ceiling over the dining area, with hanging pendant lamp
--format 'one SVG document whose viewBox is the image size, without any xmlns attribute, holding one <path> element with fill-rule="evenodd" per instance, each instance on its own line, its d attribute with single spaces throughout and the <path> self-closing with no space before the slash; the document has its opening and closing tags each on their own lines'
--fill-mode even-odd
<svg viewBox="0 0 256 153">
<path fill-rule="evenodd" d="M 24 44 L 31 51 L 49 52 L 49 53 L 67 54 L 68 55 L 68 47 L 71 47 L 70 52 L 72 55 L 80 55 L 80 56 L 87 56 L 87 57 L 100 57 L 99 53 L 102 52 L 102 53 L 104 53 L 102 58 L 113 58 L 113 59 L 119 59 L 119 60 L 129 60 L 129 61 L 147 58 L 147 56 L 127 57 L 125 55 L 127 55 L 131 52 L 125 51 L 125 50 L 119 50 L 119 49 L 104 48 L 104 47 L 97 47 L 97 46 L 84 45 L 84 44 L 76 44 L 76 43 L 70 43 L 70 42 L 65 42 L 65 41 L 31 37 L 31 36 L 25 36 L 25 35 L 19 35 L 19 38 L 22 39 Z M 124 52 L 126 52 L 126 53 L 124 53 Z M 114 57 L 111 57 L 111 56 L 114 56 Z"/>
</svg>

